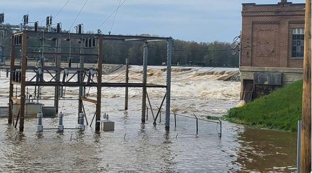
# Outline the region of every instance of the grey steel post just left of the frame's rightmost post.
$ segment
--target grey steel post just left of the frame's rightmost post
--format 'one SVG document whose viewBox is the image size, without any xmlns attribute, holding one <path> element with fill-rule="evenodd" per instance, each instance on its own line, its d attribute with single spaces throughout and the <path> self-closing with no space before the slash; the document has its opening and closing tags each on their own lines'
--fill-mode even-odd
<svg viewBox="0 0 312 173">
<path fill-rule="evenodd" d="M 148 44 L 144 42 L 143 49 L 143 85 L 147 82 L 147 56 L 148 55 Z M 145 112 L 146 112 L 146 88 L 142 88 L 142 117 L 141 121 L 145 122 Z"/>
</svg>

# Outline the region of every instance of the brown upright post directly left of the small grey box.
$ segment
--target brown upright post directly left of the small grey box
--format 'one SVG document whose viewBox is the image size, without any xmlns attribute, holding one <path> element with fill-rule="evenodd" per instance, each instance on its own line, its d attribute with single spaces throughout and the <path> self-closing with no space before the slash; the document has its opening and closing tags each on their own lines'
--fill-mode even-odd
<svg viewBox="0 0 312 173">
<path fill-rule="evenodd" d="M 96 97 L 96 117 L 95 131 L 100 131 L 101 120 L 101 89 L 102 89 L 102 58 L 103 58 L 103 35 L 98 38 L 98 74 L 97 74 L 97 97 Z"/>
</svg>

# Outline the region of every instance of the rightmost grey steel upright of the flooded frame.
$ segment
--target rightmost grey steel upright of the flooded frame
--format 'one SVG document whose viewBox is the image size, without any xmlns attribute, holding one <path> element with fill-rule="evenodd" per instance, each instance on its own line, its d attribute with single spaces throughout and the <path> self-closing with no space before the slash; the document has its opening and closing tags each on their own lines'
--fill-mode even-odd
<svg viewBox="0 0 312 173">
<path fill-rule="evenodd" d="M 172 53 L 172 38 L 168 40 L 167 49 L 167 97 L 166 97 L 166 122 L 165 129 L 170 129 L 170 88 L 171 88 L 171 53 Z"/>
</svg>

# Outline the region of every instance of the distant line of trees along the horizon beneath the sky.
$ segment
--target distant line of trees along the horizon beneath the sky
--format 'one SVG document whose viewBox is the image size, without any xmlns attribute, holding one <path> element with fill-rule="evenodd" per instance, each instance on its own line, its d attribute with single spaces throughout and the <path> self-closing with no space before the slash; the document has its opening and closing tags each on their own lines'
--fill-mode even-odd
<svg viewBox="0 0 312 173">
<path fill-rule="evenodd" d="M 3 33 L 3 32 L 2 32 Z M 157 36 L 150 34 L 140 34 L 140 36 Z M 0 39 L 1 45 L 5 47 L 4 56 L 10 55 L 10 36 Z M 27 47 L 36 47 L 37 51 L 41 49 L 42 42 L 38 40 L 28 40 Z M 44 41 L 44 46 L 54 46 L 52 41 Z M 68 42 L 62 42 L 62 52 L 69 51 Z M 79 47 L 78 41 L 71 41 L 71 47 Z M 30 48 L 32 49 L 32 48 Z M 172 44 L 172 64 L 180 66 L 211 66 L 211 67 L 238 67 L 238 53 L 232 55 L 231 42 L 212 41 L 195 42 L 174 39 Z M 34 49 L 33 49 L 34 50 Z M 32 51 L 33 51 L 32 50 Z M 42 50 L 42 49 L 41 49 Z M 48 51 L 44 49 L 44 51 Z M 71 48 L 72 52 L 78 51 Z M 85 50 L 88 53 L 96 53 L 96 49 Z M 18 58 L 18 53 L 17 53 Z M 143 42 L 142 41 L 118 41 L 104 40 L 103 63 L 124 64 L 125 58 L 129 58 L 131 65 L 143 64 Z M 8 59 L 8 58 L 7 58 Z M 62 57 L 66 61 L 67 57 Z M 149 42 L 148 43 L 148 65 L 162 65 L 167 59 L 167 42 Z M 73 62 L 78 61 L 79 57 L 74 57 Z M 96 63 L 97 57 L 85 58 L 85 63 Z"/>
</svg>

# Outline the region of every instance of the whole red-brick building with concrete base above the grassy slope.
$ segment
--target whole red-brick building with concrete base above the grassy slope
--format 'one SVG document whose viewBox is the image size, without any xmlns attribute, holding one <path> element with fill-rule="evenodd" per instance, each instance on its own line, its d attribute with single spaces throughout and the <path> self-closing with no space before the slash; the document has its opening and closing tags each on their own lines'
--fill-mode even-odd
<svg viewBox="0 0 312 173">
<path fill-rule="evenodd" d="M 241 100 L 302 79 L 305 3 L 242 4 Z"/>
</svg>

